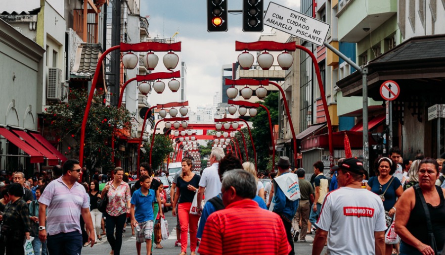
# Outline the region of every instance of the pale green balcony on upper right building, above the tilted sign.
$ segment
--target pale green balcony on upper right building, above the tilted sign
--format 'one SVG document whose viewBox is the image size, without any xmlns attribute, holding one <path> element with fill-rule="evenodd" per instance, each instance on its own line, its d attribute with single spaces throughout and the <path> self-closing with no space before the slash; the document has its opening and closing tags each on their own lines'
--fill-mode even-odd
<svg viewBox="0 0 445 255">
<path fill-rule="evenodd" d="M 397 0 L 339 0 L 338 38 L 358 43 L 397 13 Z"/>
</svg>

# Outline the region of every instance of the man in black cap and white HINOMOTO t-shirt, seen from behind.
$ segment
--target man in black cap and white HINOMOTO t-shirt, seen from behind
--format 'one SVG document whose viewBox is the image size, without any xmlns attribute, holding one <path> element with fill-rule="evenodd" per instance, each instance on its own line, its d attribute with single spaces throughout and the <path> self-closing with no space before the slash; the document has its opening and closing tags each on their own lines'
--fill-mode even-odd
<svg viewBox="0 0 445 255">
<path fill-rule="evenodd" d="M 347 158 L 339 167 L 339 189 L 326 195 L 312 255 L 321 254 L 326 238 L 330 255 L 385 254 L 385 210 L 379 196 L 361 188 L 363 163 Z"/>
</svg>

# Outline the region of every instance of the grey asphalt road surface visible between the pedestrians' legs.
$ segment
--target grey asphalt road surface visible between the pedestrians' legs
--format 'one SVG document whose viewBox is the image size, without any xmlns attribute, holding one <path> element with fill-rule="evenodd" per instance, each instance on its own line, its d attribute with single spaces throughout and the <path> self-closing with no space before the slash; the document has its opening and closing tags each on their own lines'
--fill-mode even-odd
<svg viewBox="0 0 445 255">
<path fill-rule="evenodd" d="M 153 255 L 177 255 L 180 253 L 180 247 L 175 247 L 175 241 L 176 241 L 176 230 L 174 230 L 174 227 L 176 227 L 176 218 L 172 216 L 172 212 L 169 211 L 166 213 L 166 219 L 169 223 L 169 231 L 170 236 L 169 239 L 163 240 L 161 242 L 161 245 L 164 247 L 163 249 L 153 249 Z M 136 254 L 136 248 L 135 248 L 135 238 L 131 237 L 132 230 L 130 226 L 127 226 L 126 232 L 124 233 L 125 237 L 122 241 L 122 249 L 121 249 L 121 255 L 134 255 Z M 295 254 L 296 255 L 310 255 L 312 253 L 312 240 L 313 240 L 313 234 L 306 236 L 307 242 L 296 242 L 294 243 L 295 246 Z M 142 252 L 141 254 L 144 255 L 145 251 L 145 244 L 142 244 Z M 326 250 L 326 249 L 325 249 Z M 325 252 L 323 250 L 323 254 Z M 84 247 L 82 249 L 83 255 L 108 255 L 110 254 L 110 245 L 107 242 L 106 236 L 102 236 L 102 241 L 98 241 L 97 244 L 95 244 L 92 248 L 90 247 Z M 187 254 L 190 254 L 190 250 L 187 250 Z"/>
</svg>

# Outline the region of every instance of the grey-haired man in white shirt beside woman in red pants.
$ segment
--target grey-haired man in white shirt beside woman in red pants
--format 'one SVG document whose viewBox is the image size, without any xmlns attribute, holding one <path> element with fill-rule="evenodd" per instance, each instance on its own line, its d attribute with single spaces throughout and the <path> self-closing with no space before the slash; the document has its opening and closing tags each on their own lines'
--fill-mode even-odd
<svg viewBox="0 0 445 255">
<path fill-rule="evenodd" d="M 202 211 L 202 195 L 204 195 L 205 202 L 207 202 L 209 199 L 216 197 L 221 193 L 221 179 L 218 174 L 218 168 L 223 157 L 223 149 L 213 148 L 212 153 L 210 153 L 210 166 L 202 171 L 201 180 L 199 181 L 198 195 L 196 196 L 198 211 L 200 213 Z"/>
</svg>

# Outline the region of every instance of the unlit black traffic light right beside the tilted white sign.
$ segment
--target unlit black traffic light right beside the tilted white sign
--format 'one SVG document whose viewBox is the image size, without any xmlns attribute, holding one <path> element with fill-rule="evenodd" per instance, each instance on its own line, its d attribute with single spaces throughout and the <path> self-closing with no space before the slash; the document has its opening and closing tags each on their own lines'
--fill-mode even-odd
<svg viewBox="0 0 445 255">
<path fill-rule="evenodd" d="M 243 0 L 243 31 L 263 32 L 263 0 Z"/>
</svg>

